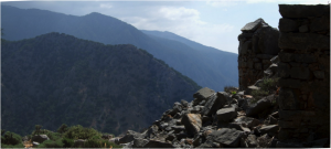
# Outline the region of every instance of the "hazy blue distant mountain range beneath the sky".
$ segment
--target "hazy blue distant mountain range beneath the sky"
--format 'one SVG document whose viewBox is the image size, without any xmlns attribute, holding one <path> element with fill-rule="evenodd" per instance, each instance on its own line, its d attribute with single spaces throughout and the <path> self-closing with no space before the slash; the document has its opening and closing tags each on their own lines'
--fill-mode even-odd
<svg viewBox="0 0 331 149">
<path fill-rule="evenodd" d="M 164 61 L 201 86 L 223 91 L 238 86 L 237 54 L 204 46 L 170 32 L 139 31 L 100 13 L 66 15 L 38 9 L 0 6 L 0 28 L 15 41 L 60 32 L 105 44 L 132 44 Z"/>
</svg>

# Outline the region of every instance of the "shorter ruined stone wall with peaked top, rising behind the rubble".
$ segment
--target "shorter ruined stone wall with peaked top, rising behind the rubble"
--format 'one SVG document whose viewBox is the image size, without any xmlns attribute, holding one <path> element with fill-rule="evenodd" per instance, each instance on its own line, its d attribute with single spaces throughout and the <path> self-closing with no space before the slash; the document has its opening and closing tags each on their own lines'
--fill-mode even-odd
<svg viewBox="0 0 331 149">
<path fill-rule="evenodd" d="M 271 64 L 270 58 L 279 53 L 279 31 L 263 19 L 247 23 L 238 35 L 239 89 L 264 77 L 264 71 Z"/>
</svg>

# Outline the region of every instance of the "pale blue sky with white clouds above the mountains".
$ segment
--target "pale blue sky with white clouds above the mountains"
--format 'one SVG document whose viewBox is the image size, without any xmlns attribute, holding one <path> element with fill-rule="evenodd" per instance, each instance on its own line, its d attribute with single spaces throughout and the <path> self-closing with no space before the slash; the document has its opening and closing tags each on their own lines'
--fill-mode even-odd
<svg viewBox="0 0 331 149">
<path fill-rule="evenodd" d="M 331 1 L 331 0 L 330 0 Z M 139 30 L 169 31 L 222 51 L 238 53 L 241 29 L 256 19 L 278 28 L 278 4 L 327 4 L 328 0 L 0 0 L 22 9 L 86 15 L 99 12 Z"/>
</svg>

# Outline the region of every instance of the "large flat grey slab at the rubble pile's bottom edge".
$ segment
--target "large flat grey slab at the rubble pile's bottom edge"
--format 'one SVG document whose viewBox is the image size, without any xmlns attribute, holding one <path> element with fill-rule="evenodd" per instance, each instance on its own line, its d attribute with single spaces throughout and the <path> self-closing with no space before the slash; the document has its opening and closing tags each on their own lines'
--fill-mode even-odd
<svg viewBox="0 0 331 149">
<path fill-rule="evenodd" d="M 209 135 L 207 140 L 220 142 L 229 147 L 239 147 L 242 136 L 243 131 L 222 128 L 221 130 L 213 131 Z"/>
</svg>

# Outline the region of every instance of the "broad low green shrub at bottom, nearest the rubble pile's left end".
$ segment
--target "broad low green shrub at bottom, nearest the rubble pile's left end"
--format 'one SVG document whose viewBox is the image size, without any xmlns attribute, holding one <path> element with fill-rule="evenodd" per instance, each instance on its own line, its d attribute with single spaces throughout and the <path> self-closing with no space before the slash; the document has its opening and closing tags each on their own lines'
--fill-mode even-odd
<svg viewBox="0 0 331 149">
<path fill-rule="evenodd" d="M 90 139 L 93 137 L 102 138 L 102 134 L 93 128 L 84 128 L 77 125 L 70 127 L 63 137 L 68 139 Z"/>
</svg>

